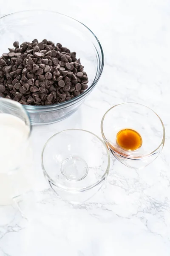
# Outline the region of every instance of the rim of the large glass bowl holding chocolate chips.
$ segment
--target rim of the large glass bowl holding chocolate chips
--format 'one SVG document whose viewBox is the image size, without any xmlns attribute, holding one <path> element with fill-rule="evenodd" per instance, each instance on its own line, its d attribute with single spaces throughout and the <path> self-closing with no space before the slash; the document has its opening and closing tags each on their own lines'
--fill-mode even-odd
<svg viewBox="0 0 170 256">
<path fill-rule="evenodd" d="M 83 24 L 82 22 L 80 22 L 79 20 L 76 20 L 68 15 L 65 15 L 65 14 L 62 14 L 60 12 L 55 12 L 55 11 L 50 11 L 50 10 L 43 10 L 43 9 L 29 9 L 29 10 L 23 10 L 23 11 L 19 11 L 19 12 L 12 12 L 10 14 L 7 14 L 7 15 L 4 15 L 2 17 L 0 17 L 0 20 L 5 18 L 5 17 L 8 17 L 8 16 L 12 16 L 12 15 L 17 15 L 19 13 L 26 13 L 26 12 L 48 12 L 48 13 L 54 13 L 54 14 L 57 14 L 57 15 L 61 15 L 61 16 L 65 16 L 71 20 L 75 20 L 77 21 L 78 23 L 82 24 L 82 26 L 84 26 L 93 36 L 94 38 L 96 39 L 96 43 L 98 43 L 99 45 L 99 49 L 101 51 L 101 61 L 99 61 L 99 69 L 97 69 L 96 71 L 96 76 L 94 78 L 94 81 L 92 82 L 91 86 L 88 87 L 84 93 L 80 94 L 79 96 L 76 96 L 74 97 L 73 99 L 70 99 L 68 100 L 67 102 L 61 102 L 59 104 L 54 104 L 54 105 L 46 105 L 46 106 L 32 106 L 32 105 L 23 105 L 24 108 L 26 108 L 27 111 L 37 111 L 37 110 L 42 110 L 42 111 L 45 111 L 45 110 L 57 110 L 57 109 L 61 109 L 62 107 L 64 108 L 65 106 L 68 106 L 68 105 L 72 105 L 74 104 L 74 102 L 77 102 L 79 101 L 80 99 L 84 98 L 86 95 L 88 95 L 95 87 L 96 83 L 99 81 L 100 79 L 100 76 L 102 75 L 102 71 L 103 71 L 103 67 L 104 67 L 104 52 L 103 52 L 103 49 L 102 49 L 102 46 L 99 42 L 99 39 L 96 37 L 96 35 L 94 34 L 94 32 L 91 31 L 91 29 L 88 28 L 88 26 L 86 26 L 85 24 Z M 94 47 L 96 49 L 96 47 Z M 97 58 L 99 58 L 99 54 L 98 54 L 98 51 L 96 50 L 96 55 L 97 55 Z M 100 59 L 100 58 L 99 58 Z"/>
</svg>

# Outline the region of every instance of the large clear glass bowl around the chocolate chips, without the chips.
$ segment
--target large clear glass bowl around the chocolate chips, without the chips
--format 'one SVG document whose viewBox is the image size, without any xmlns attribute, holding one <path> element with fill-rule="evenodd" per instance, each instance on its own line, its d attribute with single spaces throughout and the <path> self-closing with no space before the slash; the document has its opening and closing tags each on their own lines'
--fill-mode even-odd
<svg viewBox="0 0 170 256">
<path fill-rule="evenodd" d="M 44 38 L 61 43 L 72 52 L 77 52 L 88 74 L 88 89 L 79 96 L 57 105 L 24 105 L 33 125 L 54 123 L 74 113 L 99 80 L 104 55 L 99 40 L 88 27 L 71 17 L 51 11 L 23 11 L 0 18 L 0 55 L 13 48 L 13 42 L 32 41 Z"/>
</svg>

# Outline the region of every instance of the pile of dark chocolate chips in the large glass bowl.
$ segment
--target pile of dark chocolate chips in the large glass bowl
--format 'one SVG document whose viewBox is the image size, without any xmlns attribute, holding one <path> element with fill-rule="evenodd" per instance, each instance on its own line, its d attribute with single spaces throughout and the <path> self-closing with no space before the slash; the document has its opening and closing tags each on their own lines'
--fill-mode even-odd
<svg viewBox="0 0 170 256">
<path fill-rule="evenodd" d="M 88 76 L 76 52 L 44 39 L 14 42 L 0 57 L 0 96 L 24 105 L 68 101 L 88 88 Z"/>
</svg>

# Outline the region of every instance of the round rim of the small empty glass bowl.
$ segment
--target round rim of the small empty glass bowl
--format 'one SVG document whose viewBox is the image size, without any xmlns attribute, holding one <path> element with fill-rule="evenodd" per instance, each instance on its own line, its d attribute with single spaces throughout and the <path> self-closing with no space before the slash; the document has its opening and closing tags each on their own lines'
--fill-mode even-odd
<svg viewBox="0 0 170 256">
<path fill-rule="evenodd" d="M 99 180 L 97 180 L 94 184 L 90 185 L 90 186 L 86 186 L 86 187 L 82 187 L 82 188 L 68 188 L 67 186 L 64 186 L 64 185 L 61 185 L 59 183 L 56 183 L 53 179 L 51 179 L 51 177 L 48 175 L 48 173 L 46 172 L 45 170 L 45 167 L 44 167 L 44 164 L 43 164 L 43 154 L 44 154 L 44 150 L 45 150 L 45 147 L 46 145 L 48 144 L 48 142 L 53 139 L 53 137 L 61 134 L 61 133 L 65 133 L 67 131 L 83 131 L 83 132 L 87 132 L 89 134 L 92 134 L 94 137 L 96 137 L 105 147 L 106 149 L 106 153 L 107 153 L 107 157 L 108 157 L 108 165 L 107 165 L 107 168 L 105 170 L 105 173 L 102 175 L 102 177 L 100 177 Z M 68 191 L 68 192 L 83 192 L 83 191 L 86 191 L 86 190 L 89 190 L 89 189 L 92 189 L 93 187 L 97 186 L 99 183 L 102 182 L 102 180 L 108 176 L 108 172 L 109 172 L 109 169 L 110 169 L 110 153 L 108 151 L 108 148 L 107 146 L 105 145 L 104 141 L 102 139 L 100 139 L 96 134 L 92 133 L 91 131 L 87 131 L 87 130 L 84 130 L 84 129 L 66 129 L 66 130 L 63 130 L 63 131 L 59 131 L 57 132 L 56 134 L 54 134 L 53 136 L 51 136 L 45 143 L 45 145 L 43 146 L 42 148 L 42 152 L 41 152 L 41 167 L 42 167 L 42 171 L 43 171 L 43 174 L 45 177 L 47 177 L 48 181 L 50 181 L 55 187 L 57 187 L 58 189 L 61 189 L 61 190 L 64 190 L 64 191 Z"/>
</svg>

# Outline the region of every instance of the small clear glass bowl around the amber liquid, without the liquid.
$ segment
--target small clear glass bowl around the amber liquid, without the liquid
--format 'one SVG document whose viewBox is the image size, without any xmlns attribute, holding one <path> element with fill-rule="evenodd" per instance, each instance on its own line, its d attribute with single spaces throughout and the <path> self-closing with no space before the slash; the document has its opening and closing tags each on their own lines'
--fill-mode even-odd
<svg viewBox="0 0 170 256">
<path fill-rule="evenodd" d="M 137 131 L 142 146 L 135 151 L 125 150 L 116 143 L 116 135 L 123 129 Z M 103 140 L 111 153 L 123 164 L 141 169 L 158 157 L 165 141 L 164 124 L 150 108 L 138 103 L 122 103 L 110 108 L 102 118 Z"/>
</svg>

